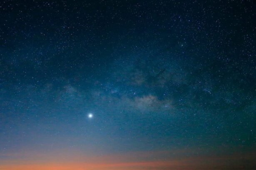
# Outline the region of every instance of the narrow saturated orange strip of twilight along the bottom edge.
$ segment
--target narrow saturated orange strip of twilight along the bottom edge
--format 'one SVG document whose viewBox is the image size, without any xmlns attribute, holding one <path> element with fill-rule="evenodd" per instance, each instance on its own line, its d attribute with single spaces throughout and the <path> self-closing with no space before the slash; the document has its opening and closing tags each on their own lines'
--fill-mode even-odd
<svg viewBox="0 0 256 170">
<path fill-rule="evenodd" d="M 225 167 L 222 159 L 186 159 L 169 161 L 141 161 L 121 163 L 6 163 L 0 165 L 0 170 L 196 170 Z M 235 165 L 235 160 L 231 165 Z"/>
</svg>

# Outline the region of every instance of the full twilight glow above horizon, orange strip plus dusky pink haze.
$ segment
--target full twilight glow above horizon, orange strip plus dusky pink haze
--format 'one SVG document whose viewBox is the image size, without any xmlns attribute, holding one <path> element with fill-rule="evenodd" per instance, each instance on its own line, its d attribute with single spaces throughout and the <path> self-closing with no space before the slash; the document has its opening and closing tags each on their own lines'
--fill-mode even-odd
<svg viewBox="0 0 256 170">
<path fill-rule="evenodd" d="M 170 151 L 130 152 L 124 154 L 110 154 L 101 156 L 85 156 L 82 154 L 15 154 L 20 159 L 8 159 L 0 162 L 0 170 L 197 170 L 197 169 L 243 169 L 244 162 L 251 162 L 254 153 L 241 155 L 239 153 L 223 156 L 178 157 L 166 159 L 152 159 L 153 156 L 168 155 Z M 178 153 L 178 151 L 176 152 Z M 179 151 L 184 153 L 184 150 Z M 67 155 L 65 155 L 67 154 Z M 35 159 L 31 159 L 35 155 Z M 60 155 L 65 159 L 60 159 Z M 27 158 L 25 158 L 27 157 Z M 45 158 L 48 159 L 45 159 Z M 72 158 L 68 159 L 68 158 Z M 248 162 L 249 161 L 249 162 Z M 249 167 L 250 168 L 250 167 Z"/>
</svg>

